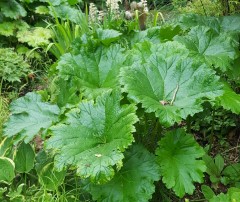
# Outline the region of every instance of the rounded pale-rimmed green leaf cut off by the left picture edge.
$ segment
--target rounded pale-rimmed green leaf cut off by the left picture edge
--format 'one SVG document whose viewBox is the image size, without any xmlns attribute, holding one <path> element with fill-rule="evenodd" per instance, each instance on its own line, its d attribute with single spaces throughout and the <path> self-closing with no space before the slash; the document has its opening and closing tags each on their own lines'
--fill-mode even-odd
<svg viewBox="0 0 240 202">
<path fill-rule="evenodd" d="M 11 182 L 15 177 L 15 164 L 7 157 L 0 157 L 0 181 Z"/>
</svg>

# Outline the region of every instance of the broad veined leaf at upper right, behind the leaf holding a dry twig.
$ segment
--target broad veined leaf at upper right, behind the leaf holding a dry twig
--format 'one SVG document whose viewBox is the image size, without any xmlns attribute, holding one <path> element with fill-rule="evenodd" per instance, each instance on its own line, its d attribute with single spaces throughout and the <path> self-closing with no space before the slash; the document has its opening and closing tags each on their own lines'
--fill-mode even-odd
<svg viewBox="0 0 240 202">
<path fill-rule="evenodd" d="M 231 68 L 238 57 L 238 43 L 229 35 L 218 35 L 208 27 L 194 27 L 188 35 L 176 36 L 175 40 L 184 44 L 197 60 L 220 67 L 222 71 Z"/>
</svg>

